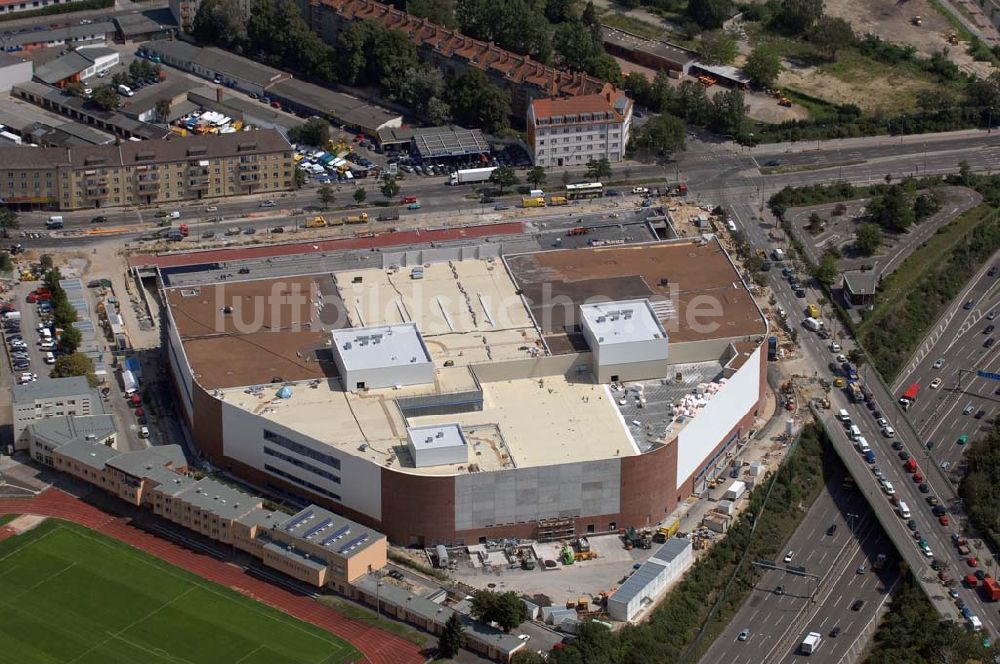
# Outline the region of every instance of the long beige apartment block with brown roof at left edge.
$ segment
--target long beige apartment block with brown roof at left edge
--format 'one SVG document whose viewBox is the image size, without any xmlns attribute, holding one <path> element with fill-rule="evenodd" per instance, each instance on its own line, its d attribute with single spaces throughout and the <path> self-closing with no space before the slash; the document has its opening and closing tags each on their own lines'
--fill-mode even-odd
<svg viewBox="0 0 1000 664">
<path fill-rule="evenodd" d="M 288 191 L 288 140 L 264 129 L 69 148 L 0 148 L 8 205 L 78 210 Z"/>
</svg>

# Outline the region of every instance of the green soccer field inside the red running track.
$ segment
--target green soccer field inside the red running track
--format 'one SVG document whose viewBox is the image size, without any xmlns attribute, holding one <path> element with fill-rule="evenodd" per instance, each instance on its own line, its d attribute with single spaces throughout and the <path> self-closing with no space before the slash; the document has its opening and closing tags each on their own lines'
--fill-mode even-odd
<svg viewBox="0 0 1000 664">
<path fill-rule="evenodd" d="M 338 664 L 346 641 L 86 528 L 0 543 L 0 662 Z"/>
</svg>

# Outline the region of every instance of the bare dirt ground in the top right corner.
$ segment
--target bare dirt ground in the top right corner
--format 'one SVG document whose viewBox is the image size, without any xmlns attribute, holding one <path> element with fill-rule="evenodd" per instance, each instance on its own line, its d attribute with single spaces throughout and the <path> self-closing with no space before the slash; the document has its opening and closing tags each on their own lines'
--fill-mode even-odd
<svg viewBox="0 0 1000 664">
<path fill-rule="evenodd" d="M 824 5 L 828 15 L 847 20 L 858 34 L 870 32 L 897 44 L 909 44 L 924 57 L 947 50 L 955 64 L 980 76 L 988 76 L 992 69 L 989 63 L 976 62 L 966 53 L 968 44 L 948 44 L 951 25 L 927 0 L 826 0 Z M 914 16 L 923 19 L 921 25 L 913 24 Z"/>
</svg>

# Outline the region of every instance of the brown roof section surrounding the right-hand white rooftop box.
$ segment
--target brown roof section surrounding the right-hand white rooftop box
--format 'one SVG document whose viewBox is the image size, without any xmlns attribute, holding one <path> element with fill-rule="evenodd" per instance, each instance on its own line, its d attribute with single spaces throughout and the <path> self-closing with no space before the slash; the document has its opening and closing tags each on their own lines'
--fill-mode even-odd
<svg viewBox="0 0 1000 664">
<path fill-rule="evenodd" d="M 507 257 L 553 353 L 586 349 L 583 302 L 648 298 L 671 343 L 764 334 L 767 325 L 718 242 L 660 242 Z"/>
</svg>

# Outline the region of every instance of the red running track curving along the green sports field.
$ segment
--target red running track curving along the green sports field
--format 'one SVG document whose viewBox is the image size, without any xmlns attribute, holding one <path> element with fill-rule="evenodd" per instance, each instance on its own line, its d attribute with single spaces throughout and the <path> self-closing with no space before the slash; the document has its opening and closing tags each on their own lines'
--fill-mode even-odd
<svg viewBox="0 0 1000 664">
<path fill-rule="evenodd" d="M 235 565 L 194 553 L 173 542 L 133 528 L 124 520 L 110 516 L 58 489 L 48 489 L 34 498 L 0 499 L 0 515 L 3 514 L 55 517 L 96 530 L 335 634 L 360 650 L 371 664 L 416 664 L 425 661 L 417 646 L 409 641 L 347 618 L 308 597 L 295 595 L 278 586 L 254 579 Z M 11 533 L 9 528 L 2 528 L 0 531 L 3 531 L 0 532 L 0 541 Z"/>
</svg>

